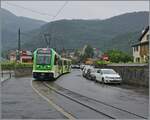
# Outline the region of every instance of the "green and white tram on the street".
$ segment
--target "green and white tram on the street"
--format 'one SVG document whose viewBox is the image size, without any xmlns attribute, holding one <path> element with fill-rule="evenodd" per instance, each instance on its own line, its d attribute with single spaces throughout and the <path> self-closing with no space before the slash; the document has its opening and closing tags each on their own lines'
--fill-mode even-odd
<svg viewBox="0 0 150 120">
<path fill-rule="evenodd" d="M 52 48 L 38 48 L 33 54 L 33 77 L 35 79 L 55 79 L 71 72 L 71 60 L 62 58 Z"/>
</svg>

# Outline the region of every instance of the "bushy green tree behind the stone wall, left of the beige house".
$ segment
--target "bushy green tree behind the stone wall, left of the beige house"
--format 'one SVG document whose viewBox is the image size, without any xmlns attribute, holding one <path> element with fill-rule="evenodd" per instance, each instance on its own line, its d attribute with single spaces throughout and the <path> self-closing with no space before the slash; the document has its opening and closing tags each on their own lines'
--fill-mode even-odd
<svg viewBox="0 0 150 120">
<path fill-rule="evenodd" d="M 119 51 L 119 50 L 109 50 L 106 52 L 109 56 L 110 62 L 119 63 L 119 62 L 131 62 L 133 61 L 133 57 L 128 55 L 125 52 Z"/>
</svg>

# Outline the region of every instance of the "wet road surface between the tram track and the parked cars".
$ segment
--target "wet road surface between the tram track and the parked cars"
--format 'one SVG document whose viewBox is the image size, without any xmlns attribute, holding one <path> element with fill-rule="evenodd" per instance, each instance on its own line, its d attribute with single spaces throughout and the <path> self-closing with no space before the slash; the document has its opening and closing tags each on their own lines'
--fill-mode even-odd
<svg viewBox="0 0 150 120">
<path fill-rule="evenodd" d="M 71 91 L 148 118 L 148 89 L 96 83 L 83 78 L 82 72 L 76 69 L 62 76 L 55 83 Z"/>
</svg>

